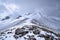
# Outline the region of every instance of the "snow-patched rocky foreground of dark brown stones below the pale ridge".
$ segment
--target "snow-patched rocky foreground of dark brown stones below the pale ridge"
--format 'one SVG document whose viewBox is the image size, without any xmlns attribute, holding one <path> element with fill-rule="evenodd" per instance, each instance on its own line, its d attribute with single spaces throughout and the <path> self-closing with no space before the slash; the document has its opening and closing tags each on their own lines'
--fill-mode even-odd
<svg viewBox="0 0 60 40">
<path fill-rule="evenodd" d="M 60 35 L 36 25 L 24 25 L 1 32 L 0 40 L 60 40 Z"/>
</svg>

